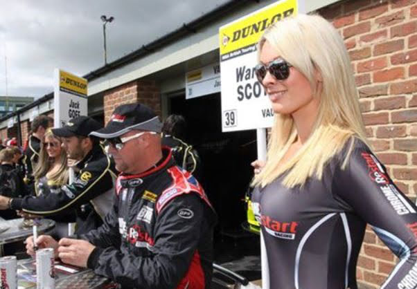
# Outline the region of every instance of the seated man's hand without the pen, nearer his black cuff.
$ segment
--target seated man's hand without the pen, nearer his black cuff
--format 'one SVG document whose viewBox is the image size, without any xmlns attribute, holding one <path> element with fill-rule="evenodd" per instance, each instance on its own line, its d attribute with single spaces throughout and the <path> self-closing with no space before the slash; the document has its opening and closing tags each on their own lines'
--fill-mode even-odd
<svg viewBox="0 0 417 289">
<path fill-rule="evenodd" d="M 62 238 L 58 256 L 64 263 L 87 268 L 87 260 L 94 248 L 95 245 L 84 240 Z"/>
</svg>

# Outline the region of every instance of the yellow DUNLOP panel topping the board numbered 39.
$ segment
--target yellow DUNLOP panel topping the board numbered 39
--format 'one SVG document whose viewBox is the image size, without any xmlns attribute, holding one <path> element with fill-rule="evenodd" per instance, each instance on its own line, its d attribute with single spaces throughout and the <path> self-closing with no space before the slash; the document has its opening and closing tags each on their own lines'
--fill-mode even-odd
<svg viewBox="0 0 417 289">
<path fill-rule="evenodd" d="M 285 17 L 296 15 L 297 9 L 297 0 L 279 1 L 223 26 L 219 31 L 220 55 L 253 46 L 267 27 Z"/>
</svg>

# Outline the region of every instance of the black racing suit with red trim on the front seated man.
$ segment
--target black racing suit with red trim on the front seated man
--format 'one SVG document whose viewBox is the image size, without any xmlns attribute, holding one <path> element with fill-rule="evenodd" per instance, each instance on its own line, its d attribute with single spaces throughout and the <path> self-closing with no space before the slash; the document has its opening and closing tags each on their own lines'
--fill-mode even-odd
<svg viewBox="0 0 417 289">
<path fill-rule="evenodd" d="M 82 236 L 87 266 L 122 288 L 210 288 L 215 213 L 197 180 L 163 149 L 157 167 L 118 177 L 105 224 Z"/>
</svg>

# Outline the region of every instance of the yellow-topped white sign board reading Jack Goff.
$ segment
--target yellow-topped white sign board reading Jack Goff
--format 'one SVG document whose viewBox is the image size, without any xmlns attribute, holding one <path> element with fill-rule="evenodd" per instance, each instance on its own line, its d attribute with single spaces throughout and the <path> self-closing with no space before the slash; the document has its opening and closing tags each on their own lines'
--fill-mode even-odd
<svg viewBox="0 0 417 289">
<path fill-rule="evenodd" d="M 87 80 L 55 69 L 54 127 L 63 127 L 69 120 L 87 115 Z"/>
</svg>

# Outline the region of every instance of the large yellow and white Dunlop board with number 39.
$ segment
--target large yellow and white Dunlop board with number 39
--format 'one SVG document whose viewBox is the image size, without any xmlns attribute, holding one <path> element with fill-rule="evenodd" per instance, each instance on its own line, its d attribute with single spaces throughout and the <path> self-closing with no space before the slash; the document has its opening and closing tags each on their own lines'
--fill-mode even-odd
<svg viewBox="0 0 417 289">
<path fill-rule="evenodd" d="M 270 25 L 299 12 L 299 1 L 281 0 L 220 27 L 222 131 L 272 127 L 274 112 L 256 80 L 258 40 Z"/>
</svg>

